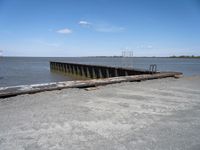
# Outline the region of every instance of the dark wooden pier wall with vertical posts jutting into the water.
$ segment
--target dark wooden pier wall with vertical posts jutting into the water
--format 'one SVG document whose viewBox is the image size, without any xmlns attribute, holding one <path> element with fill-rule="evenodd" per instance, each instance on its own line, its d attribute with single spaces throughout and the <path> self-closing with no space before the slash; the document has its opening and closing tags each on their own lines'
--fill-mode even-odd
<svg viewBox="0 0 200 150">
<path fill-rule="evenodd" d="M 67 76 L 73 76 L 79 79 L 102 79 L 119 76 L 152 74 L 155 71 L 137 70 L 121 67 L 110 67 L 100 65 L 88 65 L 66 62 L 50 62 L 51 71 L 59 72 Z"/>
</svg>

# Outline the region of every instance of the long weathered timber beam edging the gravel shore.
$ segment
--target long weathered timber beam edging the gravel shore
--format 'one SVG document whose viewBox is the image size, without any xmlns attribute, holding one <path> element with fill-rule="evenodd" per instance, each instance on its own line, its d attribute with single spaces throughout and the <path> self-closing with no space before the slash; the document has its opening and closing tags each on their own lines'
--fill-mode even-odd
<svg viewBox="0 0 200 150">
<path fill-rule="evenodd" d="M 167 77 L 178 77 L 182 73 L 179 72 L 161 72 L 156 74 L 143 74 L 133 76 L 120 76 L 104 79 L 92 79 L 92 80 L 78 80 L 78 81 L 65 81 L 65 82 L 53 82 L 46 84 L 33 84 L 33 85 L 21 85 L 11 87 L 0 88 L 0 98 L 6 98 L 11 96 L 17 96 L 22 94 L 34 94 L 44 91 L 61 90 L 66 88 L 86 88 L 100 85 L 107 85 L 121 82 L 134 82 L 143 81 Z"/>
</svg>

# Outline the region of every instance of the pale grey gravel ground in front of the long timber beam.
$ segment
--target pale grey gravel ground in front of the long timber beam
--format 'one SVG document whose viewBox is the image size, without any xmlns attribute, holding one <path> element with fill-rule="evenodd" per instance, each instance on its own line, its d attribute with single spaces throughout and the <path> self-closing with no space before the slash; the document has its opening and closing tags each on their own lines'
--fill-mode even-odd
<svg viewBox="0 0 200 150">
<path fill-rule="evenodd" d="M 200 149 L 200 76 L 0 99 L 0 149 Z"/>
</svg>

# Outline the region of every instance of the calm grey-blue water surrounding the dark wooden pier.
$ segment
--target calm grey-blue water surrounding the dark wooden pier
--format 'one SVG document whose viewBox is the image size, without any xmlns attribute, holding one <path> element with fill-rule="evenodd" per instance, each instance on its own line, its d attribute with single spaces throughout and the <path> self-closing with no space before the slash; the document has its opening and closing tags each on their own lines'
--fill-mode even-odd
<svg viewBox="0 0 200 150">
<path fill-rule="evenodd" d="M 49 61 L 77 62 L 148 69 L 157 64 L 159 71 L 179 71 L 185 76 L 200 75 L 200 59 L 189 58 L 111 58 L 111 57 L 0 57 L 0 87 L 73 80 L 50 72 Z"/>
</svg>

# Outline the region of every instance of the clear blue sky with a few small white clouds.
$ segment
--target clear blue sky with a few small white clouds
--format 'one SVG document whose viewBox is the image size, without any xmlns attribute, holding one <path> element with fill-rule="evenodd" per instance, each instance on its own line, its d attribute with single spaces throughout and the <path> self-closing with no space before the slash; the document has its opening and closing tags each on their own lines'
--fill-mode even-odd
<svg viewBox="0 0 200 150">
<path fill-rule="evenodd" d="M 5 56 L 200 55 L 200 0 L 0 0 Z"/>
</svg>

